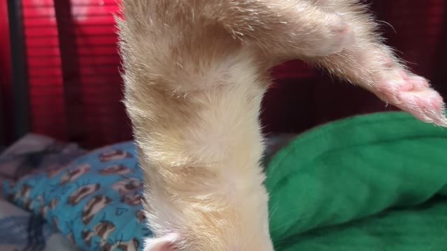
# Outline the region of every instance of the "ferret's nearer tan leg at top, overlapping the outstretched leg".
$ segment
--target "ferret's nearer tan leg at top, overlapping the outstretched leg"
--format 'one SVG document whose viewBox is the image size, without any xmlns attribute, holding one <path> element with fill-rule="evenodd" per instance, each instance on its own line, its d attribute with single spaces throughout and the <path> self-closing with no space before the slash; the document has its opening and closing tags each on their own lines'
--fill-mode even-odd
<svg viewBox="0 0 447 251">
<path fill-rule="evenodd" d="M 210 19 L 236 40 L 277 59 L 326 56 L 354 43 L 353 29 L 337 13 L 307 1 L 210 1 Z M 223 7 L 222 7 L 223 6 Z"/>
</svg>

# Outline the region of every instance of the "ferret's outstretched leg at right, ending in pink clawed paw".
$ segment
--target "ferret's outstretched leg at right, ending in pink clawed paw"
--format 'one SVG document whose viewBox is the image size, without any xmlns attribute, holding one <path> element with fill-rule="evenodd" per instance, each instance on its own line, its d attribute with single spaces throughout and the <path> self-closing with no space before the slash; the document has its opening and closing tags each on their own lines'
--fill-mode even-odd
<svg viewBox="0 0 447 251">
<path fill-rule="evenodd" d="M 337 54 L 305 60 L 362 86 L 421 121 L 447 126 L 443 98 L 427 79 L 411 73 L 393 51 L 383 45 L 376 33 L 376 23 L 365 6 L 354 0 L 316 3 L 328 12 L 342 15 L 354 27 L 356 44 Z"/>
</svg>

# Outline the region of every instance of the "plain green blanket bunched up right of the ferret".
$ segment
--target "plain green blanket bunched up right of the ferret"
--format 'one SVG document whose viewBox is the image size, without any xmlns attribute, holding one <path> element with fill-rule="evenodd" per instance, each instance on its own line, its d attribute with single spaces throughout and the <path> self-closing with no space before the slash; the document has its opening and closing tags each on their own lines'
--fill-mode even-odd
<svg viewBox="0 0 447 251">
<path fill-rule="evenodd" d="M 267 172 L 276 250 L 447 250 L 445 128 L 356 116 L 296 137 Z"/>
</svg>

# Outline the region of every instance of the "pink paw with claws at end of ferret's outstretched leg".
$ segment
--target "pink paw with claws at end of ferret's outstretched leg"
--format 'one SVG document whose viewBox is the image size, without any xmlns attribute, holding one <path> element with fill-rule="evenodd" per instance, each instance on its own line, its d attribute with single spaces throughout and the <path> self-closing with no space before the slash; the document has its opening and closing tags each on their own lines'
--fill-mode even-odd
<svg viewBox="0 0 447 251">
<path fill-rule="evenodd" d="M 389 75 L 383 75 L 375 86 L 379 98 L 413 114 L 420 121 L 447 127 L 444 100 L 430 87 L 427 79 L 401 69 L 392 70 L 392 73 L 394 77 L 386 79 Z"/>
</svg>

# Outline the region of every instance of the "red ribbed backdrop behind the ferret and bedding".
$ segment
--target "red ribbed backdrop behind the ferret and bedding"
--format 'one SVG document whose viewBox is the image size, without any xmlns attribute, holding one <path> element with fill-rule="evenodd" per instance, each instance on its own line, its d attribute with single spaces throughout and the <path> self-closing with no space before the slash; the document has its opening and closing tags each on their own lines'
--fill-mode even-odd
<svg viewBox="0 0 447 251">
<path fill-rule="evenodd" d="M 64 1 L 64 0 L 57 0 Z M 111 13 L 115 0 L 71 0 L 73 25 L 69 50 L 73 75 L 61 70 L 61 50 L 54 0 L 22 0 L 24 33 L 29 63 L 29 96 L 32 130 L 63 140 L 96 147 L 131 138 L 122 98 L 119 56 Z M 372 10 L 380 20 L 393 24 L 383 31 L 411 68 L 432 79 L 444 97 L 447 57 L 447 3 L 444 0 L 375 0 Z M 1 93 L 10 121 L 9 45 L 6 4 L 0 3 Z M 65 31 L 64 31 L 65 32 Z M 65 34 L 65 33 L 64 33 Z M 65 35 L 64 35 L 65 36 Z M 4 77 L 6 76 L 6 78 Z M 333 82 L 299 61 L 274 70 L 277 84 L 269 91 L 262 115 L 266 132 L 301 132 L 344 116 L 390 109 L 372 94 L 346 83 Z M 65 80 L 63 80 L 65 79 Z M 69 82 L 65 86 L 64 81 Z M 67 88 L 67 86 L 69 88 Z M 80 95 L 71 98 L 75 89 Z M 67 93 L 68 92 L 68 93 Z M 67 98 L 68 97 L 68 98 Z M 6 125 L 11 130 L 10 124 Z M 76 128 L 75 131 L 70 128 Z"/>
</svg>

